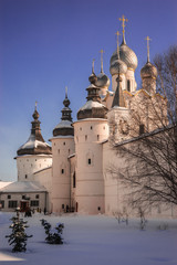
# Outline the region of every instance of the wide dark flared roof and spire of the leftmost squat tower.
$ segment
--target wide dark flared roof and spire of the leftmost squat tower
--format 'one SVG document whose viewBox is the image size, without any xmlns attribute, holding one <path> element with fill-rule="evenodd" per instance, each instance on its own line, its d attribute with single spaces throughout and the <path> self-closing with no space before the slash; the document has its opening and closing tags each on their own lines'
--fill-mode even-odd
<svg viewBox="0 0 177 265">
<path fill-rule="evenodd" d="M 39 113 L 37 110 L 37 105 L 35 105 L 35 109 L 32 117 L 34 120 L 31 123 L 32 124 L 31 135 L 28 141 L 18 149 L 17 153 L 18 156 L 51 155 L 52 153 L 51 147 L 44 141 L 41 135 L 41 128 L 40 128 L 41 121 L 39 120 Z"/>
</svg>

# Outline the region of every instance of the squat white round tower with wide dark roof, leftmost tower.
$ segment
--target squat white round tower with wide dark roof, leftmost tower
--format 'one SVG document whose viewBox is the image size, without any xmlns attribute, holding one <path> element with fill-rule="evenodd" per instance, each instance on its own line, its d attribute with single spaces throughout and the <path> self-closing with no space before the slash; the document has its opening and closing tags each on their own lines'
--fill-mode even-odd
<svg viewBox="0 0 177 265">
<path fill-rule="evenodd" d="M 18 181 L 34 181 L 34 172 L 52 165 L 52 150 L 41 135 L 37 104 L 32 117 L 31 135 L 17 151 Z"/>
</svg>

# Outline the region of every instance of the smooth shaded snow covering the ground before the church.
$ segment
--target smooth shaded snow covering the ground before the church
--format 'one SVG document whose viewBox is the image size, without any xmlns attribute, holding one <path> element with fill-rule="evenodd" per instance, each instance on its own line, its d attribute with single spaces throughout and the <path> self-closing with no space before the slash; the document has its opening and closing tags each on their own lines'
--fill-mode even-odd
<svg viewBox="0 0 177 265">
<path fill-rule="evenodd" d="M 14 213 L 0 212 L 0 264 L 9 265 L 174 265 L 177 264 L 177 222 L 148 221 L 145 231 L 139 220 L 118 224 L 105 215 L 44 216 L 34 214 L 25 219 L 30 225 L 25 253 L 12 253 L 4 235 L 11 233 L 9 219 Z M 46 219 L 53 226 L 64 223 L 64 244 L 44 242 L 44 229 L 40 220 Z M 167 230 L 157 226 L 166 225 Z"/>
</svg>

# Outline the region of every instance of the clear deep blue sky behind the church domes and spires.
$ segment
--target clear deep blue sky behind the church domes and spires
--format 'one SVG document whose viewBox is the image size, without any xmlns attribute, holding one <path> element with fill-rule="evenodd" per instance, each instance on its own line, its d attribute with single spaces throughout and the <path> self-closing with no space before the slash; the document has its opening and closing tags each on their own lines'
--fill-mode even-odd
<svg viewBox="0 0 177 265">
<path fill-rule="evenodd" d="M 176 0 L 0 0 L 0 179 L 17 180 L 17 149 L 27 141 L 35 100 L 45 140 L 60 121 L 65 86 L 73 110 L 84 105 L 95 59 L 110 76 L 118 18 L 128 19 L 127 45 L 138 57 L 136 81 L 146 62 L 177 43 Z"/>
</svg>

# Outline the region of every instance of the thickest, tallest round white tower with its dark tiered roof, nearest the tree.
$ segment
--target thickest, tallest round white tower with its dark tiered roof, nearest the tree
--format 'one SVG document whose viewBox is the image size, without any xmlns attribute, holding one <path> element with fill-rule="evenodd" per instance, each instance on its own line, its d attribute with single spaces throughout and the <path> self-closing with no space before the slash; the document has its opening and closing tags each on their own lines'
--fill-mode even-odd
<svg viewBox="0 0 177 265">
<path fill-rule="evenodd" d="M 108 137 L 107 108 L 101 104 L 97 77 L 92 68 L 87 102 L 77 113 L 74 126 L 76 153 L 76 208 L 79 212 L 104 213 L 102 141 Z"/>
</svg>

